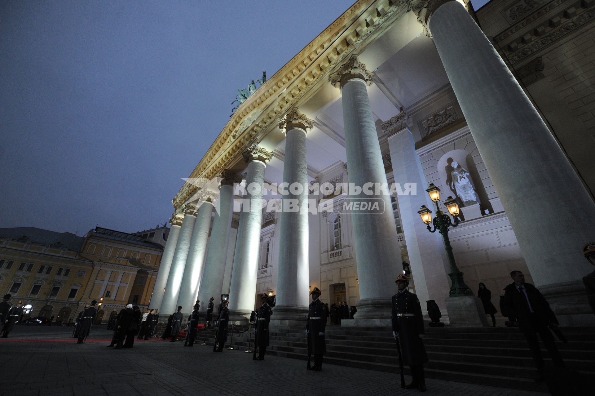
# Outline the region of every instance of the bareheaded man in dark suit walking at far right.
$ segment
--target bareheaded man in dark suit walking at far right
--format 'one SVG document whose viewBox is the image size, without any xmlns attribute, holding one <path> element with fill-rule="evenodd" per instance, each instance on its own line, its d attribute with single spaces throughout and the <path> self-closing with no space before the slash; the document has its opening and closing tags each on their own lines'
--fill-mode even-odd
<svg viewBox="0 0 595 396">
<path fill-rule="evenodd" d="M 549 329 L 555 329 L 558 326 L 558 320 L 550 308 L 550 304 L 537 288 L 530 283 L 525 283 L 525 276 L 521 271 L 512 271 L 511 277 L 513 283 L 504 289 L 502 305 L 516 317 L 519 330 L 527 338 L 539 374 L 537 381 L 545 381 L 544 361 L 539 341 L 537 341 L 537 333 L 541 336 L 541 341 L 546 346 L 555 366 L 565 367 Z"/>
</svg>

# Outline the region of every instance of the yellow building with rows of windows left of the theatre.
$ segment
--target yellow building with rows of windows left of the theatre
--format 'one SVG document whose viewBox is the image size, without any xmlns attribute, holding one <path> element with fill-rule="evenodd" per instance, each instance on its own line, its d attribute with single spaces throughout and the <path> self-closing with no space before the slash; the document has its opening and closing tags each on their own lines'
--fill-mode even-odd
<svg viewBox="0 0 595 396">
<path fill-rule="evenodd" d="M 157 229 L 167 235 L 167 227 Z M 166 236 L 167 238 L 167 236 Z M 35 227 L 0 229 L 0 294 L 32 308 L 27 317 L 66 323 L 104 297 L 97 323 L 124 305 L 148 307 L 163 248 L 142 236 L 96 227 L 86 236 Z"/>
</svg>

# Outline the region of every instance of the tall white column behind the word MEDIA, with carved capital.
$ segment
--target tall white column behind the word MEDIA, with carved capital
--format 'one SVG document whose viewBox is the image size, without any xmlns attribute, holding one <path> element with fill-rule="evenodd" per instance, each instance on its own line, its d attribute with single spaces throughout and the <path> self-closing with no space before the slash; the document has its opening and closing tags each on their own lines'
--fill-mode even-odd
<svg viewBox="0 0 595 396">
<path fill-rule="evenodd" d="M 357 55 L 352 55 L 330 76 L 331 83 L 341 89 L 349 183 L 359 188 L 366 183 L 387 185 L 368 99 L 367 85 L 372 80 L 372 74 L 359 62 Z M 368 321 L 369 326 L 388 325 L 392 308 L 390 297 L 396 293 L 394 280 L 402 268 L 390 196 L 388 189 L 384 194 L 354 192 L 349 194 L 352 202 L 378 202 L 378 211 L 352 216 L 360 298 L 354 318 L 374 319 Z"/>
</svg>

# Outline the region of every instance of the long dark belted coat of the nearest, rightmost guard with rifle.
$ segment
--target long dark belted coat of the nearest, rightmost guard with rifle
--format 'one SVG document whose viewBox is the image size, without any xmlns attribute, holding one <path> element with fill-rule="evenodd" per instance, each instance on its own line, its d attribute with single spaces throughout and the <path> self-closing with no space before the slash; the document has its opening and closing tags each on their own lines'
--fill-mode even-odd
<svg viewBox="0 0 595 396">
<path fill-rule="evenodd" d="M 424 342 L 419 338 L 420 334 L 425 334 L 425 330 L 424 316 L 417 295 L 405 289 L 400 294 L 393 295 L 392 305 L 393 331 L 399 333 L 403 364 L 427 363 L 428 355 L 425 353 Z"/>
</svg>

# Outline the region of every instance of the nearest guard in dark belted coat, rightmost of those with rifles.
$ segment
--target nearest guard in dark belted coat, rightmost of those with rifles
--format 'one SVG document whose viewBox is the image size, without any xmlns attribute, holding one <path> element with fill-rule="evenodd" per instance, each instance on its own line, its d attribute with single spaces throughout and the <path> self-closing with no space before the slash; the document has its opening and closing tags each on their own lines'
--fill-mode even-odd
<svg viewBox="0 0 595 396">
<path fill-rule="evenodd" d="M 397 294 L 393 295 L 393 337 L 400 343 L 403 364 L 411 369 L 413 381 L 405 389 L 418 388 L 425 392 L 424 363 L 428 362 L 424 342 L 424 317 L 417 295 L 407 290 L 409 279 L 405 275 L 397 276 Z"/>
</svg>

